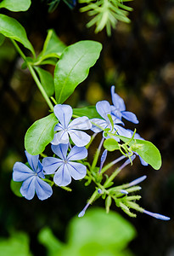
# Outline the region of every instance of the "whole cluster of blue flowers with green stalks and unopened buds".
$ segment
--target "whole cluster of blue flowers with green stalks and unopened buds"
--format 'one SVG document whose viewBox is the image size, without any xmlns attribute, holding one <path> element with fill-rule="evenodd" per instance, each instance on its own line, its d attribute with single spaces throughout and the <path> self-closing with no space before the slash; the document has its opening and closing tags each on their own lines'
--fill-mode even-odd
<svg viewBox="0 0 174 256">
<path fill-rule="evenodd" d="M 31 168 L 27 164 L 16 162 L 13 179 L 16 182 L 23 182 L 20 193 L 28 200 L 31 200 L 35 193 L 40 200 L 48 199 L 53 194 L 53 184 L 63 189 L 70 189 L 66 186 L 71 183 L 72 178 L 74 180 L 85 179 L 86 185 L 93 181 L 96 184 L 96 190 L 87 201 L 87 206 L 79 213 L 79 217 L 82 217 L 87 207 L 101 196 L 105 200 L 106 212 L 109 212 L 111 202 L 115 201 L 115 205 L 121 207 L 131 217 L 136 217 L 136 214 L 130 211 L 133 209 L 154 218 L 168 220 L 169 218 L 166 216 L 139 207 L 136 201 L 141 198 L 140 195 L 130 195 L 141 189 L 138 183 L 142 182 L 146 176 L 140 177 L 132 183 L 114 186 L 115 177 L 125 166 L 132 164 L 136 155 L 139 156 L 143 166 L 147 166 L 151 161 L 149 155 L 146 156 L 147 148 L 143 148 L 146 145 L 143 138 L 136 131 L 126 129 L 123 122 L 123 119 L 126 119 L 133 124 L 138 124 L 138 118 L 134 113 L 126 111 L 123 99 L 115 93 L 115 86 L 111 87 L 111 97 L 112 105 L 107 101 L 100 101 L 96 104 L 94 113 L 97 111 L 101 118 L 95 116 L 93 119 L 89 119 L 87 116 L 76 117 L 76 115 L 73 116 L 73 109 L 69 105 L 55 105 L 53 113 L 58 123 L 54 126 L 54 135 L 51 141 L 53 156 L 42 155 L 42 160 L 39 160 L 39 155 L 31 155 L 25 151 L 28 165 Z M 93 131 L 92 137 L 85 132 L 87 130 Z M 94 154 L 93 162 L 90 164 L 87 162 L 87 149 L 99 132 L 103 132 L 103 137 Z M 103 153 L 101 152 L 102 147 L 104 147 Z M 122 155 L 104 165 L 108 151 L 116 149 L 119 149 Z M 143 150 L 145 150 L 145 154 L 143 154 Z M 97 166 L 99 157 L 100 165 Z M 110 167 L 124 159 L 126 161 L 117 167 L 109 177 L 104 175 Z"/>
</svg>

